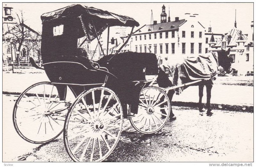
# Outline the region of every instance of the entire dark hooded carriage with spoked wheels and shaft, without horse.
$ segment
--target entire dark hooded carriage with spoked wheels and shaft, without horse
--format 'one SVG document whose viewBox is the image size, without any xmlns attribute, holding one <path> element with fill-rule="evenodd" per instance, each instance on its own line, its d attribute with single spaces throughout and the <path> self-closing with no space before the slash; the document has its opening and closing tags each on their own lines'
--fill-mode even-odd
<svg viewBox="0 0 256 167">
<path fill-rule="evenodd" d="M 116 147 L 124 118 L 141 133 L 160 131 L 171 112 L 166 91 L 201 81 L 165 90 L 152 86 L 156 78 L 149 82 L 145 73 L 152 66 L 158 70 L 154 54 L 118 54 L 132 36 L 133 28 L 139 26 L 130 17 L 71 5 L 44 13 L 41 20 L 43 68 L 32 58 L 30 62 L 33 67 L 45 70 L 50 82 L 33 84 L 20 94 L 13 109 L 13 123 L 18 134 L 31 143 L 50 142 L 63 132 L 65 148 L 74 161 L 106 159 Z M 105 55 L 99 36 L 108 29 L 109 38 L 112 26 L 132 27 L 132 30 L 116 54 L 108 55 L 107 46 Z M 97 39 L 96 48 L 100 48 L 104 57 L 94 62 L 91 55 L 89 60 L 78 46 L 81 39 L 80 46 Z M 124 59 L 133 60 L 135 66 L 124 70 Z M 145 64 L 143 59 L 153 63 Z M 75 99 L 69 98 L 68 90 Z"/>
</svg>

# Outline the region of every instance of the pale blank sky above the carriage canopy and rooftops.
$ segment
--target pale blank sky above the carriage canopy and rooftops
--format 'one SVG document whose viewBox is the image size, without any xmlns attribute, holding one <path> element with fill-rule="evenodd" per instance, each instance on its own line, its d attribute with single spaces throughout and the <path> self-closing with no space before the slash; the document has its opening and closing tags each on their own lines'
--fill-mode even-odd
<svg viewBox="0 0 256 167">
<path fill-rule="evenodd" d="M 40 16 L 74 3 L 3 3 L 4 6 L 13 7 L 14 12 L 23 11 L 25 24 L 32 29 L 41 32 L 42 22 Z M 170 7 L 171 21 L 175 17 L 185 18 L 185 13 L 199 14 L 197 19 L 208 30 L 211 21 L 213 33 L 228 33 L 234 27 L 235 10 L 237 28 L 243 34 L 251 33 L 251 21 L 253 21 L 253 3 L 78 3 L 88 7 L 107 10 L 120 15 L 132 17 L 140 23 L 140 26 L 150 24 L 151 10 L 153 18 L 160 22 L 160 14 L 163 4 Z"/>
</svg>

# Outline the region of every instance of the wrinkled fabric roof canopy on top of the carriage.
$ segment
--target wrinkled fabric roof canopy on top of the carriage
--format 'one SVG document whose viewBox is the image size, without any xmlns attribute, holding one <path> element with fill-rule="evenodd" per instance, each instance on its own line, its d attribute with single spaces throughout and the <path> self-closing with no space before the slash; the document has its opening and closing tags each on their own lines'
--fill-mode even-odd
<svg viewBox="0 0 256 167">
<path fill-rule="evenodd" d="M 82 28 L 85 33 L 84 36 L 86 36 L 89 41 L 95 39 L 96 36 L 101 34 L 108 26 L 138 27 L 140 25 L 137 21 L 130 17 L 80 4 L 74 4 L 53 12 L 44 13 L 41 16 L 41 20 L 44 24 L 45 22 L 49 21 L 58 22 L 64 18 L 74 17 L 81 20 Z"/>
</svg>

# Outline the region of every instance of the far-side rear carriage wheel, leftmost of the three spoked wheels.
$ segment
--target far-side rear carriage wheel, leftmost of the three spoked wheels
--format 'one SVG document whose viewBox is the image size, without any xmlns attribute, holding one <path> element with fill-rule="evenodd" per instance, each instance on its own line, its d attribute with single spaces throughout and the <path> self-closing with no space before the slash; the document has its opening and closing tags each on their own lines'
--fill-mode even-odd
<svg viewBox="0 0 256 167">
<path fill-rule="evenodd" d="M 17 99 L 13 108 L 13 124 L 20 137 L 41 144 L 57 138 L 63 131 L 68 108 L 60 101 L 56 86 L 36 83 Z"/>
</svg>

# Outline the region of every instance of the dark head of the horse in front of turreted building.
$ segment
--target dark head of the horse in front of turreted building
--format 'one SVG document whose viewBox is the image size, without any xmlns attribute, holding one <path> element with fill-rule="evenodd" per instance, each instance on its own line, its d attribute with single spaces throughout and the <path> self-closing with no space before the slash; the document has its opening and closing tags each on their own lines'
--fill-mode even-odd
<svg viewBox="0 0 256 167">
<path fill-rule="evenodd" d="M 218 52 L 219 66 L 221 66 L 228 74 L 231 72 L 231 63 L 233 61 L 232 57 L 229 56 L 229 53 L 230 48 L 228 48 L 228 50 L 221 50 Z"/>
</svg>

